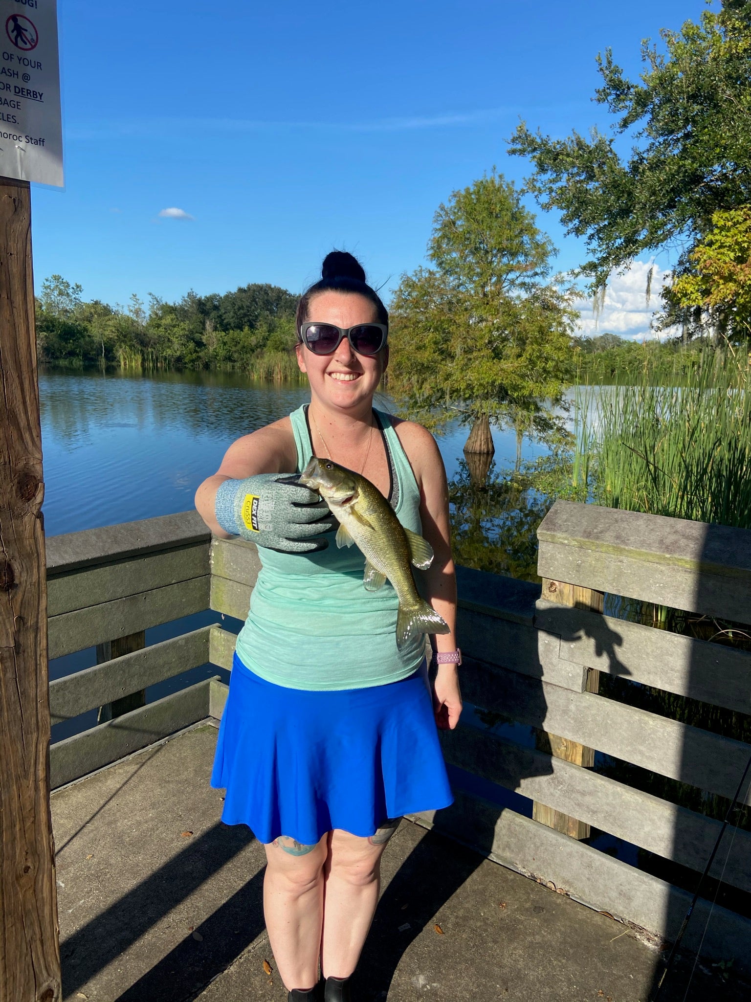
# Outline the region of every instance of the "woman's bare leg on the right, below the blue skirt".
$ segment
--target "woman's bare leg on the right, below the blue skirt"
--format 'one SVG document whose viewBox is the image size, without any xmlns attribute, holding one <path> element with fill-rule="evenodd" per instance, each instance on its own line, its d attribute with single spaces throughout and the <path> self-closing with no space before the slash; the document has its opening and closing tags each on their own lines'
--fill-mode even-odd
<svg viewBox="0 0 751 1002">
<path fill-rule="evenodd" d="M 340 829 L 330 833 L 320 951 L 327 978 L 348 978 L 357 964 L 379 903 L 381 857 L 399 822 L 385 822 L 367 839 Z"/>
</svg>

